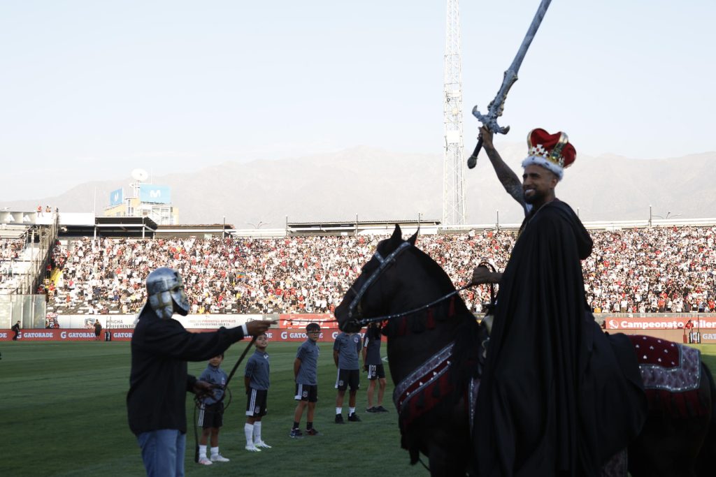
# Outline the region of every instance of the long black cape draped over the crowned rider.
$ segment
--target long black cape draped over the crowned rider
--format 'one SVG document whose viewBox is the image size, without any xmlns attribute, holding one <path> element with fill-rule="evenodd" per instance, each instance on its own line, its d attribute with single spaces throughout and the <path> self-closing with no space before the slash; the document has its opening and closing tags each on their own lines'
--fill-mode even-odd
<svg viewBox="0 0 716 477">
<path fill-rule="evenodd" d="M 500 292 L 475 412 L 485 476 L 596 476 L 646 417 L 634 350 L 586 304 L 589 233 L 569 205 L 523 223 Z"/>
</svg>

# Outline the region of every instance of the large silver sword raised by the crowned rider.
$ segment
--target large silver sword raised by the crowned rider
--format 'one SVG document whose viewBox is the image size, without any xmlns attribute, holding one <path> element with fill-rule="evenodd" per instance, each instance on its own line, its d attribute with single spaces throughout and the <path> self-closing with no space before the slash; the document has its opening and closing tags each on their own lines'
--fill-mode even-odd
<svg viewBox="0 0 716 477">
<path fill-rule="evenodd" d="M 544 14 L 547 13 L 547 8 L 551 1 L 552 0 L 542 0 L 542 3 L 539 5 L 537 13 L 535 14 L 534 19 L 532 19 L 532 24 L 527 30 L 525 39 L 522 40 L 520 49 L 518 49 L 517 51 L 515 59 L 512 60 L 512 64 L 505 72 L 505 77 L 503 78 L 502 86 L 500 86 L 500 91 L 497 92 L 497 96 L 495 96 L 495 99 L 493 99 L 492 102 L 490 102 L 490 104 L 488 105 L 488 114 L 480 113 L 478 111 L 477 106 L 473 108 L 473 116 L 480 119 L 480 122 L 483 123 L 483 126 L 487 127 L 490 132 L 499 132 L 500 134 L 507 134 L 510 131 L 509 126 L 500 127 L 500 124 L 497 124 L 497 118 L 502 116 L 502 112 L 505 109 L 505 98 L 507 97 L 507 94 L 510 91 L 512 85 L 515 84 L 515 82 L 517 81 L 517 72 L 520 70 L 522 60 L 525 59 L 527 50 L 529 49 L 530 44 L 532 43 L 532 39 L 535 37 L 535 34 L 537 33 L 537 30 L 542 23 Z M 480 154 L 480 149 L 482 149 L 482 147 L 483 138 L 479 137 L 478 145 L 475 146 L 473 155 L 470 156 L 470 158 L 468 159 L 468 167 L 470 169 L 473 169 L 473 167 L 475 167 L 475 165 L 478 163 L 478 154 Z"/>
</svg>

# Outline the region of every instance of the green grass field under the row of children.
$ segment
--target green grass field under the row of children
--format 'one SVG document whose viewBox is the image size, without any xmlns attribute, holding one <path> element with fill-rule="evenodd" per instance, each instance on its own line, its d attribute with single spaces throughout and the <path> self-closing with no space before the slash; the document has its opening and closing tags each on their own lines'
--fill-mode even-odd
<svg viewBox="0 0 716 477">
<path fill-rule="evenodd" d="M 292 363 L 299 343 L 272 343 L 269 414 L 263 418 L 263 439 L 273 448 L 244 451 L 246 421 L 243 363 L 233 380 L 233 402 L 221 431 L 221 453 L 228 463 L 199 466 L 193 462 L 191 423 L 187 435 L 189 476 L 363 476 L 379 473 L 427 476 L 410 466 L 400 448 L 397 415 L 390 400 L 388 414 L 365 413 L 367 380 L 358 395 L 361 423 L 333 423 L 335 367 L 332 344 L 321 343 L 319 403 L 314 426 L 320 436 L 289 438 L 295 401 Z M 228 351 L 228 373 L 246 343 Z M 701 345 L 704 359 L 716 370 L 716 345 Z M 140 451 L 127 426 L 125 395 L 129 387 L 129 343 L 12 343 L 0 345 L 0 476 L 140 476 Z M 190 363 L 198 375 L 205 363 Z M 345 403 L 347 404 L 347 402 Z M 344 406 L 347 407 L 347 406 Z M 188 399 L 188 419 L 193 400 Z M 344 410 L 344 413 L 346 410 Z M 301 428 L 305 428 L 305 415 Z"/>
</svg>

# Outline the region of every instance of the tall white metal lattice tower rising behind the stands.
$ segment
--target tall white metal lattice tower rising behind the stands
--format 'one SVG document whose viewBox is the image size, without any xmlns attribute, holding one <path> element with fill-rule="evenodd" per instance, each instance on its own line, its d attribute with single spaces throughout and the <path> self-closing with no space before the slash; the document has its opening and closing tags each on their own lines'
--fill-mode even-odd
<svg viewBox="0 0 716 477">
<path fill-rule="evenodd" d="M 442 161 L 442 223 L 465 224 L 463 160 L 463 60 L 460 53 L 460 2 L 448 0 L 445 31 L 445 153 Z"/>
</svg>

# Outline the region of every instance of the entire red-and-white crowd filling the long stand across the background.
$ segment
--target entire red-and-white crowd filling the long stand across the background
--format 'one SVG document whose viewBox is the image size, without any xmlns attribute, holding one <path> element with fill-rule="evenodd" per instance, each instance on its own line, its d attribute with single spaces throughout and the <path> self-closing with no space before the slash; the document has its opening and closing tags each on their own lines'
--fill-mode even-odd
<svg viewBox="0 0 716 477">
<path fill-rule="evenodd" d="M 713 313 L 716 227 L 654 227 L 591 231 L 594 251 L 584 260 L 587 300 L 604 313 Z M 144 282 L 156 267 L 178 270 L 191 313 L 331 313 L 372 256 L 374 236 L 279 239 L 99 238 L 57 245 L 62 271 L 54 309 L 62 313 L 137 313 Z M 473 267 L 504 270 L 514 231 L 422 235 L 417 245 L 448 272 L 456 287 Z M 482 310 L 487 287 L 463 292 Z"/>
</svg>

